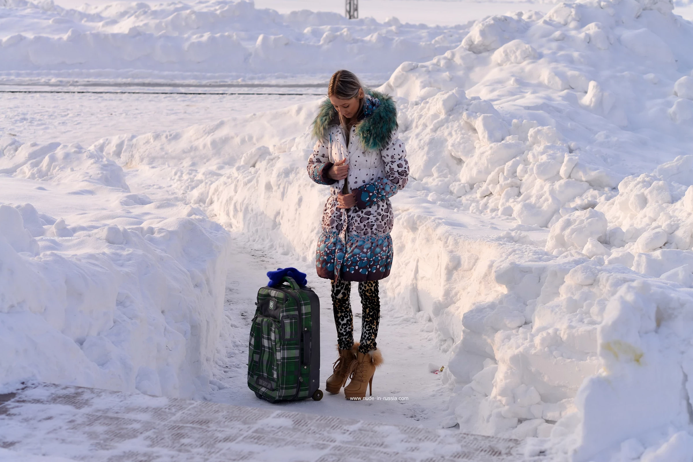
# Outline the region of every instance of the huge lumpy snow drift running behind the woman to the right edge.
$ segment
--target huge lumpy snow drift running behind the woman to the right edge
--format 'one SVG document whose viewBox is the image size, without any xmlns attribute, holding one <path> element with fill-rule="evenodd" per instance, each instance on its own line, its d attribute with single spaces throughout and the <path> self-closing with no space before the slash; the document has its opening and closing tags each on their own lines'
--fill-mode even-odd
<svg viewBox="0 0 693 462">
<path fill-rule="evenodd" d="M 477 21 L 381 88 L 413 177 L 387 292 L 450 351 L 444 426 L 556 460 L 690 458 L 692 38 L 668 1 L 563 3 Z M 143 177 L 177 159 L 188 201 L 310 264 L 316 107 L 94 149 Z"/>
</svg>

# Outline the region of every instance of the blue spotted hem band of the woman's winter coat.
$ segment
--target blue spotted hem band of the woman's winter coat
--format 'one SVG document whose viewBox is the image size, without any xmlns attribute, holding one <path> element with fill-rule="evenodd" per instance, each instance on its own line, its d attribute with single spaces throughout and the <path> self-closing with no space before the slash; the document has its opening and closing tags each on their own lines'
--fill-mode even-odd
<svg viewBox="0 0 693 462">
<path fill-rule="evenodd" d="M 323 231 L 315 251 L 315 269 L 321 278 L 342 281 L 379 281 L 392 269 L 392 238 L 351 233 L 345 243 L 336 231 Z"/>
</svg>

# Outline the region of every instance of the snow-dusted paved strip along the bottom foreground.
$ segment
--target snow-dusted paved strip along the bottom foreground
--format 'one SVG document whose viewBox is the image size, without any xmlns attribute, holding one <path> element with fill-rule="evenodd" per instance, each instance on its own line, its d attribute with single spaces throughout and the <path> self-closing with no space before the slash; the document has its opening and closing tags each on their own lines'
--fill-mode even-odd
<svg viewBox="0 0 693 462">
<path fill-rule="evenodd" d="M 32 462 L 500 462 L 522 457 L 518 441 L 492 436 L 315 417 L 281 406 L 249 409 L 53 384 L 0 395 L 0 426 L 0 459 L 19 453 Z"/>
</svg>

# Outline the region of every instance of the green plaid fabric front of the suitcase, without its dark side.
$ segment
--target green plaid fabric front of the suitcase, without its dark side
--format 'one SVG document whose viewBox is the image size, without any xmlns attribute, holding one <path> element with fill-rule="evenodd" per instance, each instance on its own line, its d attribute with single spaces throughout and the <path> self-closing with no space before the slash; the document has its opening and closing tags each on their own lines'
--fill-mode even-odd
<svg viewBox="0 0 693 462">
<path fill-rule="evenodd" d="M 308 398 L 310 365 L 301 364 L 301 341 L 312 328 L 304 291 L 262 287 L 250 329 L 249 389 L 272 402 Z"/>
</svg>

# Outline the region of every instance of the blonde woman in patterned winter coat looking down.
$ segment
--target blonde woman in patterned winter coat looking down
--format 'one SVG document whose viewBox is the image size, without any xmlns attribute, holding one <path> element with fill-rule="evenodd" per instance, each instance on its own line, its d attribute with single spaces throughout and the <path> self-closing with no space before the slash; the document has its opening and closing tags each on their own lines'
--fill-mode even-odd
<svg viewBox="0 0 693 462">
<path fill-rule="evenodd" d="M 366 396 L 376 367 L 383 362 L 376 348 L 380 299 L 378 281 L 392 267 L 392 206 L 389 197 L 404 188 L 409 176 L 404 143 L 396 138 L 397 110 L 388 95 L 365 89 L 349 71 L 332 75 L 328 99 L 313 121 L 317 138 L 308 159 L 308 175 L 330 185 L 322 215 L 315 267 L 332 281 L 332 305 L 339 357 L 326 389 L 347 399 Z M 362 305 L 361 341 L 353 341 L 349 294 L 358 282 Z"/>
</svg>

